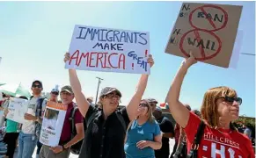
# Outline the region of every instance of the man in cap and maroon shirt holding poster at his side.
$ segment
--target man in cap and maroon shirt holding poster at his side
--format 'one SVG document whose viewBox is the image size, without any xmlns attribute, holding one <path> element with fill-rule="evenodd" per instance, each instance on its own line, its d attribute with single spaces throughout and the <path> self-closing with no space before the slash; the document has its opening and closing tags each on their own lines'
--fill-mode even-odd
<svg viewBox="0 0 256 158">
<path fill-rule="evenodd" d="M 71 136 L 72 126 L 69 118 L 71 118 L 71 111 L 75 107 L 75 103 L 73 102 L 74 93 L 69 85 L 62 87 L 61 99 L 63 106 L 68 107 L 64 124 L 62 126 L 62 134 L 59 145 L 56 147 L 48 147 L 43 145 L 40 150 L 40 158 L 68 158 L 70 154 L 70 147 L 84 138 L 84 119 L 80 111 L 76 111 L 74 117 L 77 135 L 75 135 L 73 138 Z"/>
</svg>

